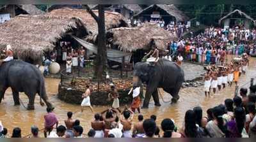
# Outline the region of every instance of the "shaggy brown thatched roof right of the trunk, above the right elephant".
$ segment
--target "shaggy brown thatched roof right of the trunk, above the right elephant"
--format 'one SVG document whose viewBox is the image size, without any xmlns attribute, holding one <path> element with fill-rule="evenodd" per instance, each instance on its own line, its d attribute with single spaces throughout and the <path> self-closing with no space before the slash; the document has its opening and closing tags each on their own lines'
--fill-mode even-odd
<svg viewBox="0 0 256 142">
<path fill-rule="evenodd" d="M 166 50 L 166 43 L 175 36 L 158 27 L 156 24 L 145 23 L 138 27 L 120 27 L 107 32 L 108 44 L 117 46 L 118 50 L 133 52 L 138 49 L 150 49 L 154 43 L 159 50 Z"/>
</svg>

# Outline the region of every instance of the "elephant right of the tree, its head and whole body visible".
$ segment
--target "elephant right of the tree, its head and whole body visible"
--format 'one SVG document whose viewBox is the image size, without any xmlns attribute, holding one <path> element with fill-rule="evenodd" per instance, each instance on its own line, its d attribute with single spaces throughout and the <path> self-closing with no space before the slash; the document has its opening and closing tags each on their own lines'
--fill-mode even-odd
<svg viewBox="0 0 256 142">
<path fill-rule="evenodd" d="M 148 108 L 151 96 L 156 106 L 161 106 L 157 88 L 163 88 L 172 95 L 172 103 L 177 103 L 179 90 L 184 82 L 184 71 L 176 64 L 167 59 L 159 59 L 156 64 L 150 62 L 137 62 L 133 71 L 133 83 L 142 82 L 147 85 L 145 99 L 142 108 Z"/>
</svg>

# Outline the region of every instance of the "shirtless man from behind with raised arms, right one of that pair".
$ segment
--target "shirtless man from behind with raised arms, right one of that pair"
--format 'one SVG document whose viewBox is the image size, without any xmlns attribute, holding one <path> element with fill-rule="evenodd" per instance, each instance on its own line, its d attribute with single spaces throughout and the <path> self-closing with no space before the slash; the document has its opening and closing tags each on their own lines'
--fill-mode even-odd
<svg viewBox="0 0 256 142">
<path fill-rule="evenodd" d="M 122 112 L 121 124 L 123 125 L 123 135 L 124 138 L 132 138 L 131 129 L 132 129 L 132 118 L 133 112 L 125 108 Z"/>
</svg>

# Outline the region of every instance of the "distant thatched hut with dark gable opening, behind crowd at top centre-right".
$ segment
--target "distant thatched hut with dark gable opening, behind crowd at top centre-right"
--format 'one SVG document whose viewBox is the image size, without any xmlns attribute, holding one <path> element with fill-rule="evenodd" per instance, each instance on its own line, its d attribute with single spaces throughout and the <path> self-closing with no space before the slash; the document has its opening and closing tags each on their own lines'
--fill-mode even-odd
<svg viewBox="0 0 256 142">
<path fill-rule="evenodd" d="M 189 18 L 173 4 L 153 4 L 134 15 L 134 17 L 143 17 L 144 15 L 147 18 L 151 18 L 150 16 L 156 14 L 156 11 L 158 12 L 157 15 L 161 18 L 174 17 L 176 22 L 186 22 L 189 20 Z"/>
</svg>

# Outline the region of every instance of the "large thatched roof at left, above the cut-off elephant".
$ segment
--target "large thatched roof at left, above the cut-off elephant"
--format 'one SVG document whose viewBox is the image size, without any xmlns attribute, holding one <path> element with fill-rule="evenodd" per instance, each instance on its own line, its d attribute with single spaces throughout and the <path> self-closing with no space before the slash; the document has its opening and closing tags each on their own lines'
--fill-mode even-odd
<svg viewBox="0 0 256 142">
<path fill-rule="evenodd" d="M 0 25 L 0 50 L 11 45 L 16 57 L 37 63 L 59 39 L 67 34 L 79 36 L 78 32 L 88 34 L 78 18 L 19 15 Z"/>
</svg>

